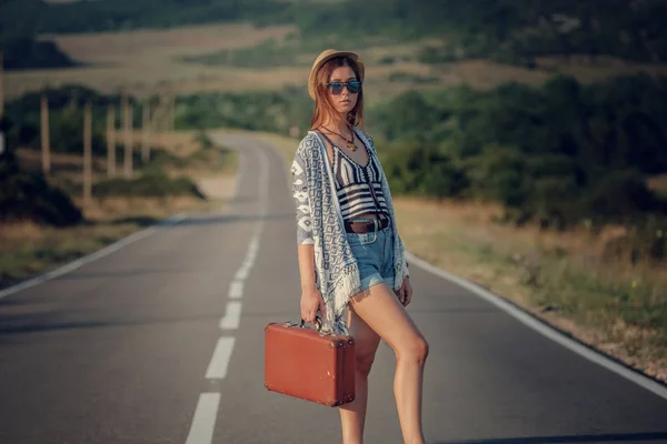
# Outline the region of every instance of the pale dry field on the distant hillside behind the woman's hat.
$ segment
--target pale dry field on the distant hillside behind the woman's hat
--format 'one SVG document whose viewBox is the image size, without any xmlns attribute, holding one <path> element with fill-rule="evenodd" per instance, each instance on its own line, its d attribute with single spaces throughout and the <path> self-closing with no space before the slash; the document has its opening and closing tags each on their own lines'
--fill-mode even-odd
<svg viewBox="0 0 667 444">
<path fill-rule="evenodd" d="M 298 36 L 291 26 L 257 28 L 249 23 L 207 24 L 170 30 L 137 30 L 91 34 L 42 36 L 56 41 L 73 60 L 83 67 L 9 72 L 6 77 L 9 99 L 44 85 L 58 87 L 78 83 L 113 93 L 128 89 L 142 97 L 160 90 L 177 92 L 247 91 L 305 85 L 308 68 L 317 52 L 305 52 L 297 65 L 269 69 L 232 65 L 203 65 L 180 60 L 186 56 L 212 53 L 220 50 L 255 48 L 267 40 L 283 42 Z M 516 80 L 538 85 L 555 72 L 576 75 L 581 81 L 595 81 L 619 73 L 650 72 L 667 74 L 667 67 L 624 63 L 614 59 L 544 58 L 539 69 L 497 64 L 485 60 L 469 60 L 431 65 L 415 61 L 417 51 L 426 44 L 438 44 L 427 39 L 405 44 L 377 44 L 346 48 L 358 51 L 367 63 L 367 97 L 370 100 L 396 95 L 409 88 L 429 89 L 469 83 L 475 89 L 490 89 Z M 322 48 L 325 49 L 325 48 Z M 382 58 L 392 56 L 397 61 L 384 64 Z M 407 74 L 407 80 L 390 81 L 391 74 Z M 410 77 L 434 79 L 418 83 Z"/>
</svg>

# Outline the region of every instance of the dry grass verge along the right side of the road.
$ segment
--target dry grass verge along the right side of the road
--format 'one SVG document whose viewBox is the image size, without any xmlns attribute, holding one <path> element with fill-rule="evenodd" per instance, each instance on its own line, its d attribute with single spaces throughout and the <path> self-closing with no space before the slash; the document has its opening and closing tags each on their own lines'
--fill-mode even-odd
<svg viewBox="0 0 667 444">
<path fill-rule="evenodd" d="M 261 133 L 283 157 L 286 171 L 298 140 Z M 287 186 L 290 176 L 288 172 Z M 578 340 L 667 382 L 667 273 L 601 259 L 621 235 L 609 226 L 550 232 L 495 222 L 489 204 L 395 198 L 406 248 L 475 282 Z"/>
</svg>

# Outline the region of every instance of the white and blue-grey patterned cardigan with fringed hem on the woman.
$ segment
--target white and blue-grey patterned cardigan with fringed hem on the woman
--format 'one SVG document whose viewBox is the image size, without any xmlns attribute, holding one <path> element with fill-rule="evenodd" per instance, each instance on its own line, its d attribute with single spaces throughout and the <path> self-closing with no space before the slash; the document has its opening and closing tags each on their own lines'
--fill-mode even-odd
<svg viewBox="0 0 667 444">
<path fill-rule="evenodd" d="M 355 131 L 368 148 L 368 154 L 377 159 L 372 138 L 359 129 Z M 315 249 L 316 285 L 326 305 L 326 313 L 321 313 L 322 330 L 349 334 L 344 317 L 345 309 L 350 297 L 361 291 L 361 282 L 357 260 L 347 241 L 334 172 L 319 134 L 309 131 L 299 142 L 290 171 L 297 243 L 312 244 Z M 382 192 L 394 226 L 394 291 L 398 291 L 409 272 L 402 241 L 396 229 L 389 184 L 384 173 L 381 176 Z"/>
</svg>

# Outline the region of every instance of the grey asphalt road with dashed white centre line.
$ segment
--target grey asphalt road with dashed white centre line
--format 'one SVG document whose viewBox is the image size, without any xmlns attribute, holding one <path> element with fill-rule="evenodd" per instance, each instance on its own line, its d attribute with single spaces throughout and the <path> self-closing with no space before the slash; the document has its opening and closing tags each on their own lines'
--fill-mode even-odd
<svg viewBox="0 0 667 444">
<path fill-rule="evenodd" d="M 276 152 L 225 142 L 241 167 L 223 212 L 0 293 L 0 444 L 340 442 L 335 408 L 263 386 L 265 325 L 299 319 L 292 202 Z M 412 263 L 429 443 L 667 443 L 664 386 Z M 367 443 L 401 442 L 394 363 L 382 344 Z"/>
</svg>

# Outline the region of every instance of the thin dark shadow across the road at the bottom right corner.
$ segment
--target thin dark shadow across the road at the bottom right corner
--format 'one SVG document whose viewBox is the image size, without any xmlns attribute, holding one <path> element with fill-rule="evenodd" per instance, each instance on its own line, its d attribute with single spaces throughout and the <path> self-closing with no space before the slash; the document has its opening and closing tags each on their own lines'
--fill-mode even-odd
<svg viewBox="0 0 667 444">
<path fill-rule="evenodd" d="M 559 444 L 559 443 L 627 443 L 627 442 L 666 442 L 667 432 L 647 433 L 609 433 L 601 435 L 563 435 L 563 436 L 527 436 L 501 437 L 489 440 L 440 441 L 431 444 Z"/>
</svg>

